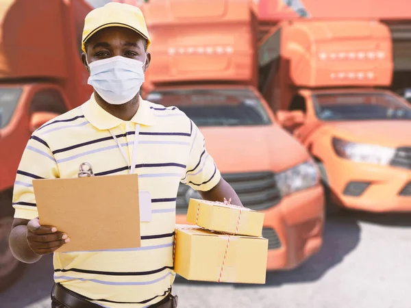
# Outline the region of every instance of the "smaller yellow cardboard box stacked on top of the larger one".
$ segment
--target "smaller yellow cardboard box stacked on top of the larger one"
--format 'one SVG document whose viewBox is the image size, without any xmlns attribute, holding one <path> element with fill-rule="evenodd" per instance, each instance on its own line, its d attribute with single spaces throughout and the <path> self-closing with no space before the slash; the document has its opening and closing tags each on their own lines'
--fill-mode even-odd
<svg viewBox="0 0 411 308">
<path fill-rule="evenodd" d="M 190 199 L 187 222 L 208 230 L 238 235 L 262 236 L 264 213 L 221 202 Z M 238 232 L 236 233 L 238 220 Z"/>
</svg>

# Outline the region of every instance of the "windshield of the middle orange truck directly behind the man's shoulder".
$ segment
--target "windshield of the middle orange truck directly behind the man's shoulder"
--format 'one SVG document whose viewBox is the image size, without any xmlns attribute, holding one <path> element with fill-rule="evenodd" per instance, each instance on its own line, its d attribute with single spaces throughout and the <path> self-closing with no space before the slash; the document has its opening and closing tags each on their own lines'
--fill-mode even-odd
<svg viewBox="0 0 411 308">
<path fill-rule="evenodd" d="M 271 120 L 251 90 L 164 90 L 147 100 L 182 110 L 197 126 L 269 125 Z"/>
</svg>

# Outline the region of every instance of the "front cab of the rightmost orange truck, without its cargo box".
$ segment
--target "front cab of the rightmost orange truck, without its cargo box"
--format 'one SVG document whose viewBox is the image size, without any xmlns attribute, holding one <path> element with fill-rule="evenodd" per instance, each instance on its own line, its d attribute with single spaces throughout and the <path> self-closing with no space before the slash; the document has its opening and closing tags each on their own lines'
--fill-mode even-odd
<svg viewBox="0 0 411 308">
<path fill-rule="evenodd" d="M 290 105 L 315 157 L 329 211 L 411 211 L 411 107 L 375 89 L 301 90 Z"/>
</svg>

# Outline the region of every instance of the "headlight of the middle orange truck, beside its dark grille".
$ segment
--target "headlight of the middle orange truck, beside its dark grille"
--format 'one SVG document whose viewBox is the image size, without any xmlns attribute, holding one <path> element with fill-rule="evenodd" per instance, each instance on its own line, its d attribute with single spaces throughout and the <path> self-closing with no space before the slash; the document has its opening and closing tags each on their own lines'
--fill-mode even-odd
<svg viewBox="0 0 411 308">
<path fill-rule="evenodd" d="M 275 175 L 282 196 L 305 190 L 319 183 L 319 169 L 312 161 L 304 162 Z"/>
</svg>

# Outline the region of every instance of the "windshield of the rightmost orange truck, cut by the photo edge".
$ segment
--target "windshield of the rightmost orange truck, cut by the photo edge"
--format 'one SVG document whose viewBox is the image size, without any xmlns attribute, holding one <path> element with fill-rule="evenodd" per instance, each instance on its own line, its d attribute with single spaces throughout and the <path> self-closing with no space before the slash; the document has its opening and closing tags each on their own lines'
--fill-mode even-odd
<svg viewBox="0 0 411 308">
<path fill-rule="evenodd" d="M 313 95 L 321 120 L 411 120 L 411 107 L 385 93 Z"/>
</svg>

